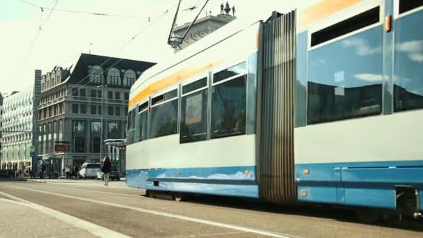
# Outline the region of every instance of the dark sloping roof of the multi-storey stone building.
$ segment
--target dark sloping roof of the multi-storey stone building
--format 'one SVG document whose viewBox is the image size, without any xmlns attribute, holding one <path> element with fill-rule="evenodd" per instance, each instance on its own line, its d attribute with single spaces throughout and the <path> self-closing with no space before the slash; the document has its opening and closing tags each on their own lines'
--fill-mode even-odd
<svg viewBox="0 0 423 238">
<path fill-rule="evenodd" d="M 114 58 L 109 56 L 98 56 L 95 54 L 81 54 L 79 57 L 79 60 L 77 61 L 77 65 L 75 65 L 74 70 L 72 74 L 70 75 L 70 78 L 67 79 L 67 84 L 93 84 L 89 83 L 88 78 L 88 69 L 93 66 L 101 66 L 106 72 L 109 68 L 117 68 L 119 70 L 134 70 L 138 78 L 142 72 L 147 70 L 148 68 L 152 67 L 152 65 L 155 65 L 156 63 L 147 62 L 147 61 L 134 61 L 129 60 L 125 58 Z M 83 79 L 83 81 L 81 81 Z M 113 86 L 116 88 L 122 87 L 125 88 L 125 86 Z"/>
</svg>

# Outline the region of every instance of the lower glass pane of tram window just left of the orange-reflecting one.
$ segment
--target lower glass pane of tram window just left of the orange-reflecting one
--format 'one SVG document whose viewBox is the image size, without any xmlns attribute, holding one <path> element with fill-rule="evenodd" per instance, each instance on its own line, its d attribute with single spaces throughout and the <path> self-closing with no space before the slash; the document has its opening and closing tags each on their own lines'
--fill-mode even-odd
<svg viewBox="0 0 423 238">
<path fill-rule="evenodd" d="M 177 133 L 177 100 L 153 106 L 151 109 L 150 138 Z"/>
</svg>

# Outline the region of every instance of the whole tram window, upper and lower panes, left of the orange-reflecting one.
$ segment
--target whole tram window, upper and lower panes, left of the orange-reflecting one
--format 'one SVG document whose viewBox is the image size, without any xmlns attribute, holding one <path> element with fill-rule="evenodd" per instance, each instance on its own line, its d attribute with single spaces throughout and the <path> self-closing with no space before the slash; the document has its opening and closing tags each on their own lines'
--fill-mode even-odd
<svg viewBox="0 0 423 238">
<path fill-rule="evenodd" d="M 177 99 L 177 89 L 152 99 L 150 138 L 177 134 Z"/>
</svg>

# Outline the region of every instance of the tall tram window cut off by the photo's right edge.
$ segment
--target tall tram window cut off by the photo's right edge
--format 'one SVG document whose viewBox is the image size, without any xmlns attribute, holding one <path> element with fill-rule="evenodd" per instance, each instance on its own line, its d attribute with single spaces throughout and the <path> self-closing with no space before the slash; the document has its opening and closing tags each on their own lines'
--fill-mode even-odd
<svg viewBox="0 0 423 238">
<path fill-rule="evenodd" d="M 422 24 L 423 10 L 395 23 L 394 111 L 423 109 Z"/>
</svg>

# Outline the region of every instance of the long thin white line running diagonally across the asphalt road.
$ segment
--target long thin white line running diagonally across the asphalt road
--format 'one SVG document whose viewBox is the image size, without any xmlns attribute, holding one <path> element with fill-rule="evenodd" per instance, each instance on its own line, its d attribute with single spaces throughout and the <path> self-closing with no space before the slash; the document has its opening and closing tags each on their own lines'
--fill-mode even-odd
<svg viewBox="0 0 423 238">
<path fill-rule="evenodd" d="M 184 221 L 193 221 L 193 222 L 196 222 L 196 223 L 202 223 L 202 224 L 206 224 L 206 225 L 214 225 L 214 226 L 221 227 L 221 228 L 228 228 L 228 229 L 232 229 L 232 230 L 250 232 L 250 233 L 255 233 L 255 234 L 258 234 L 258 235 L 266 235 L 266 236 L 269 236 L 269 237 L 279 237 L 279 238 L 295 237 L 294 235 L 285 235 L 285 234 L 280 234 L 280 233 L 277 233 L 277 232 L 270 232 L 270 231 L 266 231 L 266 230 L 255 229 L 255 228 L 247 228 L 247 227 L 244 227 L 244 226 L 241 226 L 241 225 L 232 225 L 232 224 L 221 223 L 221 222 L 217 222 L 217 221 L 208 221 L 208 220 L 205 220 L 205 219 L 197 219 L 197 218 L 193 218 L 193 217 L 189 217 L 189 216 L 172 214 L 172 213 L 168 213 L 168 212 L 159 212 L 159 211 L 154 211 L 154 210 L 151 210 L 151 209 L 144 209 L 144 208 L 140 208 L 140 207 L 132 207 L 132 206 L 127 206 L 127 205 L 121 205 L 121 204 L 118 204 L 118 203 L 108 203 L 108 202 L 104 202 L 104 201 L 100 201 L 100 200 L 93 200 L 93 199 L 89 199 L 89 198 L 81 198 L 81 197 L 76 197 L 76 196 L 69 196 L 69 195 L 63 195 L 63 194 L 58 194 L 58 193 L 51 193 L 51 192 L 40 191 L 40 190 L 35 190 L 35 189 L 27 189 L 27 188 L 23 188 L 23 187 L 13 186 L 13 188 L 24 189 L 24 190 L 28 190 L 28 191 L 35 191 L 37 193 L 46 193 L 46 194 L 50 194 L 50 195 L 54 195 L 54 196 L 60 196 L 60 197 L 63 197 L 63 198 L 73 198 L 73 199 L 82 200 L 82 201 L 86 201 L 86 202 L 90 202 L 90 203 L 98 203 L 98 204 L 102 204 L 102 205 L 109 205 L 109 206 L 112 206 L 112 207 L 120 207 L 120 208 L 125 208 L 125 209 L 131 209 L 131 210 L 138 211 L 138 212 L 145 212 L 145 213 L 150 213 L 150 214 L 159 215 L 159 216 L 166 216 L 166 217 L 184 220 Z"/>
</svg>

